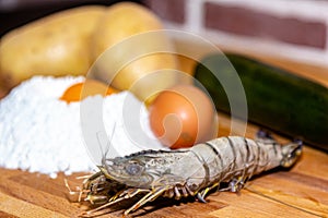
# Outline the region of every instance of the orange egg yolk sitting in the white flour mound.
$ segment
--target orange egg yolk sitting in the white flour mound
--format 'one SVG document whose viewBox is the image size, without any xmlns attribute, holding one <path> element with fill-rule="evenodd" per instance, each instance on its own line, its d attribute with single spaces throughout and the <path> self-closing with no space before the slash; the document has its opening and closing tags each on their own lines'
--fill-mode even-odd
<svg viewBox="0 0 328 218">
<path fill-rule="evenodd" d="M 85 82 L 77 83 L 68 87 L 60 97 L 60 100 L 65 100 L 67 102 L 80 101 L 87 96 L 107 96 L 113 93 L 118 93 L 118 90 L 113 87 L 106 86 L 102 82 L 86 80 Z"/>
</svg>

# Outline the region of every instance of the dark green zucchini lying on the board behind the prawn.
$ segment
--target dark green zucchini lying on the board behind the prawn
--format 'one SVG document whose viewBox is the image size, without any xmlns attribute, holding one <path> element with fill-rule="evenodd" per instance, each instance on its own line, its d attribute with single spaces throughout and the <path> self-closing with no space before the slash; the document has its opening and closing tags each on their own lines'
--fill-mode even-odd
<svg viewBox="0 0 328 218">
<path fill-rule="evenodd" d="M 244 86 L 250 122 L 328 150 L 327 87 L 243 56 L 226 53 L 225 57 Z M 214 75 L 229 76 L 232 72 L 225 57 L 221 53 L 206 57 L 203 64 L 196 66 L 195 77 L 207 88 L 216 109 L 230 112 L 226 94 Z"/>
</svg>

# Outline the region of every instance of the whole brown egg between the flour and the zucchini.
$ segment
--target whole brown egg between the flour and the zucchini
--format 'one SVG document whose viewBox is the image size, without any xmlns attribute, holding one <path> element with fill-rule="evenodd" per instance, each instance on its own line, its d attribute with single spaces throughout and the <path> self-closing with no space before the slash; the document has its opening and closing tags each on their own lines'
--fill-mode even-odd
<svg viewBox="0 0 328 218">
<path fill-rule="evenodd" d="M 159 94 L 150 106 L 150 125 L 162 144 L 190 147 L 216 136 L 218 114 L 211 99 L 192 85 Z"/>
</svg>

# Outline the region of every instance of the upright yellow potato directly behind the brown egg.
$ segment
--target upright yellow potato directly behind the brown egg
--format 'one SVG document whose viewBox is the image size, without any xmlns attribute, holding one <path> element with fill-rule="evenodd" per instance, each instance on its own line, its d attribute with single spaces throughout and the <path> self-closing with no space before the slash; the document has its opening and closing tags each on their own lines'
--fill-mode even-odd
<svg viewBox="0 0 328 218">
<path fill-rule="evenodd" d="M 132 2 L 114 4 L 103 14 L 93 35 L 91 50 L 97 60 L 92 76 L 147 100 L 177 83 L 169 71 L 177 69 L 176 57 L 156 52 L 173 51 L 172 48 L 161 21 L 150 10 Z"/>
</svg>

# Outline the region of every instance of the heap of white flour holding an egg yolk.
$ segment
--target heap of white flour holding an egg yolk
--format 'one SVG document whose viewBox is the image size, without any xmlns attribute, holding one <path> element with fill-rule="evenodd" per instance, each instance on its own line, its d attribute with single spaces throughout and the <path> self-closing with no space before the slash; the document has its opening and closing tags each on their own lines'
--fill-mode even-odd
<svg viewBox="0 0 328 218">
<path fill-rule="evenodd" d="M 0 101 L 0 167 L 56 178 L 60 171 L 95 169 L 108 140 L 110 157 L 162 148 L 150 130 L 145 107 L 129 92 L 82 102 L 59 100 L 70 85 L 81 81 L 84 77 L 33 77 Z M 105 132 L 96 130 L 94 121 L 99 120 L 95 118 L 102 118 Z"/>
</svg>

